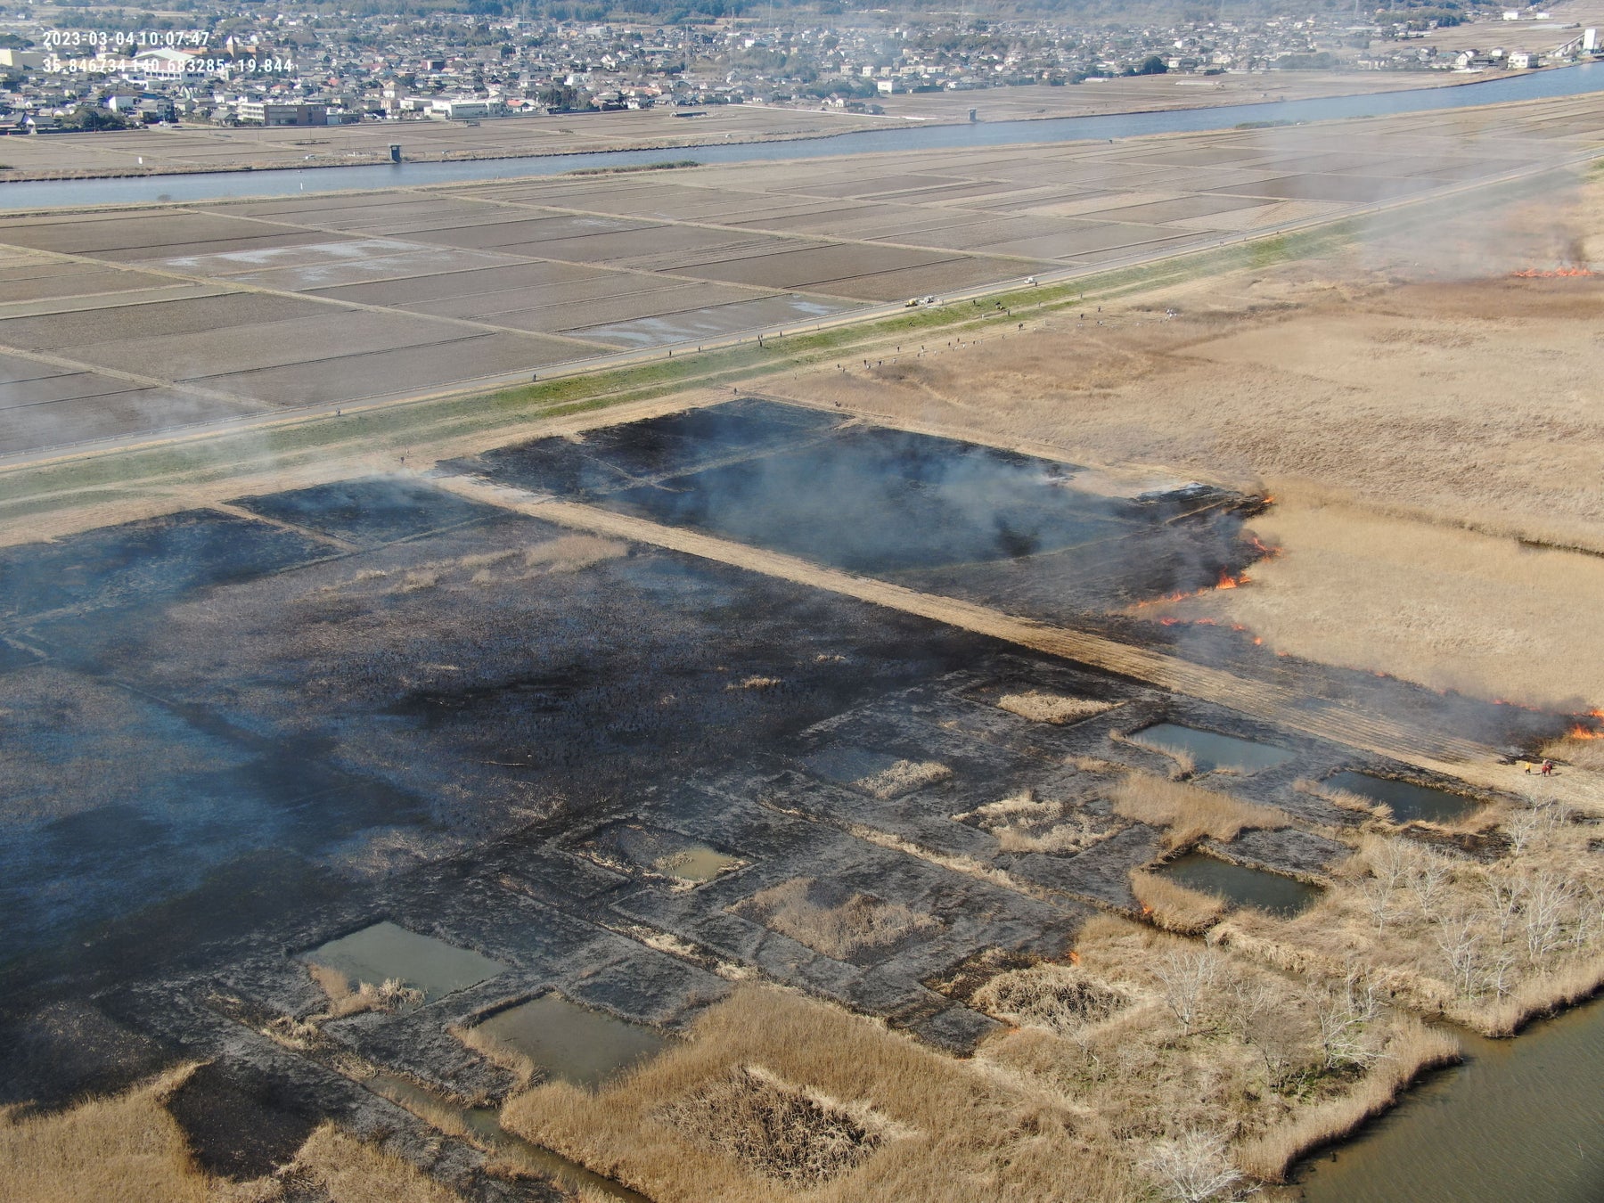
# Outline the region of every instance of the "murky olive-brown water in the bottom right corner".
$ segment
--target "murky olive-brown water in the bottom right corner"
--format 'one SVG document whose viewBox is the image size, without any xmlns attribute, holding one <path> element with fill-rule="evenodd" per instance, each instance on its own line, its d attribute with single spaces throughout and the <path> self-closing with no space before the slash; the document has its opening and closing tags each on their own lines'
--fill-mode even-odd
<svg viewBox="0 0 1604 1203">
<path fill-rule="evenodd" d="M 1306 1203 L 1604 1200 L 1604 998 L 1514 1039 L 1458 1035 L 1463 1065 L 1312 1160 Z"/>
</svg>

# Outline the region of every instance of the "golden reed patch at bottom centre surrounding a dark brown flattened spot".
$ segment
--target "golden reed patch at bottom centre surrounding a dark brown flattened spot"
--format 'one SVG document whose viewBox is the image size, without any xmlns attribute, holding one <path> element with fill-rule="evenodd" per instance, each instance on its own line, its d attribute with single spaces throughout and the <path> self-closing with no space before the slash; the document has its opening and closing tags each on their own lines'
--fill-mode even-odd
<svg viewBox="0 0 1604 1203">
<path fill-rule="evenodd" d="M 778 1120 L 754 1081 L 776 1083 L 792 1100 L 800 1092 L 813 1105 L 786 1104 L 784 1132 L 765 1140 Z M 725 1128 L 687 1134 L 682 1116 L 690 1115 Z M 842 1120 L 821 1120 L 828 1115 L 874 1132 L 873 1148 L 861 1153 L 868 1136 L 853 1139 Z M 1142 1190 L 1081 1139 L 1079 1116 L 1051 1091 L 765 986 L 738 990 L 703 1015 L 690 1043 L 600 1094 L 541 1086 L 513 1099 L 502 1123 L 658 1203 L 712 1195 L 722 1203 L 1047 1203 L 1063 1198 L 1067 1182 L 1076 1198 L 1112 1203 Z M 800 1137 L 799 1126 L 815 1134 Z M 776 1160 L 788 1147 L 797 1148 L 791 1160 Z M 852 1165 L 797 1193 L 791 1182 L 808 1181 L 813 1150 L 844 1147 L 860 1150 Z"/>
</svg>

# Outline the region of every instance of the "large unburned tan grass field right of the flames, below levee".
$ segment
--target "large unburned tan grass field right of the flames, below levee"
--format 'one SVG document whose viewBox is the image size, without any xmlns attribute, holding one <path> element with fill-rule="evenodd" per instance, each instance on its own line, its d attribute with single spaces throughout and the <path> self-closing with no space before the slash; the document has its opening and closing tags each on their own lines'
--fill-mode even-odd
<svg viewBox="0 0 1604 1203">
<path fill-rule="evenodd" d="M 1400 282 L 1418 245 L 1367 244 L 905 358 L 898 379 L 767 387 L 1076 464 L 1267 483 L 1258 526 L 1286 555 L 1182 613 L 1434 688 L 1599 706 L 1604 613 L 1580 600 L 1604 595 L 1604 561 L 1517 541 L 1604 550 L 1604 282 L 1498 277 L 1551 258 L 1540 229 L 1604 229 L 1604 178 L 1541 209 L 1498 215 L 1492 241 L 1485 215 L 1434 231 L 1434 282 Z M 1456 239 L 1480 250 L 1453 273 Z M 1184 316 L 1158 319 L 1168 303 Z M 1522 377 L 1543 387 L 1513 396 Z"/>
</svg>

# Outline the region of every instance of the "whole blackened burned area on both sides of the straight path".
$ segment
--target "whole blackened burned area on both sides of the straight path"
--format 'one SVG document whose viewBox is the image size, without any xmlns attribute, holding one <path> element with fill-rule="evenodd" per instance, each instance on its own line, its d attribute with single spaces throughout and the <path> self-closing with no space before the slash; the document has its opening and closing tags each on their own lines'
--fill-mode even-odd
<svg viewBox="0 0 1604 1203">
<path fill-rule="evenodd" d="M 1041 616 L 1256 555 L 1237 531 L 1258 499 L 1096 497 L 1065 465 L 760 403 L 465 468 Z M 1131 871 L 1169 849 L 1110 797 L 1128 770 L 1173 773 L 1131 738 L 1155 723 L 1282 752 L 1193 776 L 1291 816 L 1203 840 L 1245 869 L 1315 879 L 1347 855 L 1314 828 L 1359 820 L 1299 781 L 1436 784 L 422 478 L 13 547 L 0 616 L 0 1104 L 210 1059 L 173 1112 L 236 1177 L 324 1116 L 423 1148 L 383 1083 L 494 1105 L 518 1075 L 448 1030 L 531 999 L 682 1033 L 755 975 L 967 1054 L 999 1023 L 951 986 L 962 966 L 1055 958 L 1096 911 L 1137 914 Z M 839 913 L 861 922 L 820 926 Z M 379 940 L 358 964 L 420 994 L 306 1035 L 327 1004 L 308 962 L 342 937 Z M 468 954 L 478 975 L 454 977 Z M 435 1173 L 470 1197 L 549 1197 L 448 1148 Z"/>
</svg>

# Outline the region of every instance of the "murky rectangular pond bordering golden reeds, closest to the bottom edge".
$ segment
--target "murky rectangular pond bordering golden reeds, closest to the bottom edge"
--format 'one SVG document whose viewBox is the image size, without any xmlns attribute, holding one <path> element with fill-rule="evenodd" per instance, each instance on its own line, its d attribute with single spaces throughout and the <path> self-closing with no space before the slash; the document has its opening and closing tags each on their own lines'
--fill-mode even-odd
<svg viewBox="0 0 1604 1203">
<path fill-rule="evenodd" d="M 510 1049 L 545 1078 L 597 1088 L 662 1052 L 670 1039 L 640 1023 L 541 994 L 497 1011 L 472 1028 L 473 1043 Z"/>
</svg>

